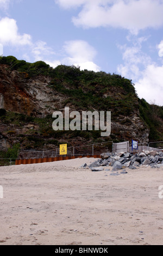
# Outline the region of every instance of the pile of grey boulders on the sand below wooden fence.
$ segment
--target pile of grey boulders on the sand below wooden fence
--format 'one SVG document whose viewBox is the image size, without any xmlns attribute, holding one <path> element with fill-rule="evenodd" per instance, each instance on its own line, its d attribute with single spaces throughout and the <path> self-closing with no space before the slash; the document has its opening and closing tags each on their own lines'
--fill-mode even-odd
<svg viewBox="0 0 163 256">
<path fill-rule="evenodd" d="M 111 166 L 112 171 L 126 168 L 136 169 L 140 166 L 151 166 L 151 168 L 163 167 L 162 151 L 144 151 L 142 153 L 104 153 L 101 159 L 90 164 L 92 171 L 101 171 L 103 167 Z"/>
</svg>

